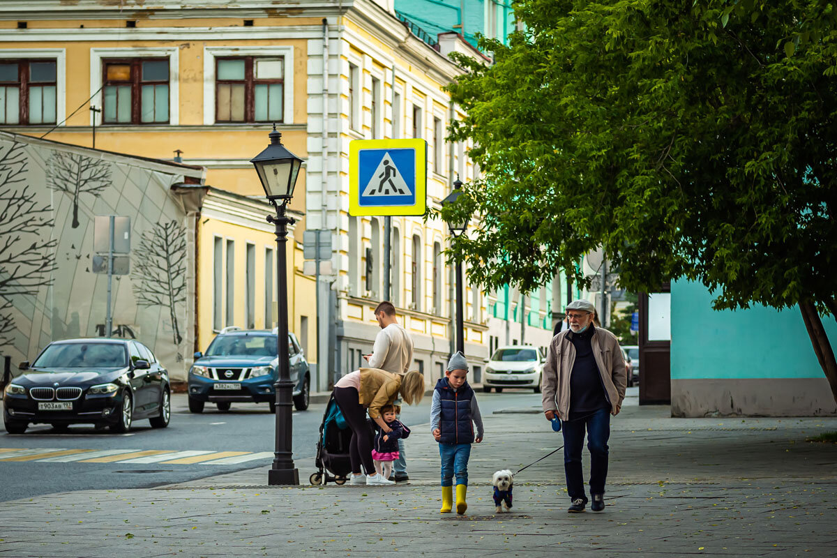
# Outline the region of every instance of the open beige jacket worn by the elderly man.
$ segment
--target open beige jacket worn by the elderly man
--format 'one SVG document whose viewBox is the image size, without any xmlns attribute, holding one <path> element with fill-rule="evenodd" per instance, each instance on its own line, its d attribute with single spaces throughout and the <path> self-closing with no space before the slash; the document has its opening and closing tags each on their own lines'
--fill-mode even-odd
<svg viewBox="0 0 837 558">
<path fill-rule="evenodd" d="M 570 372 L 575 364 L 575 346 L 567 339 L 569 333 L 569 330 L 564 330 L 552 337 L 547 364 L 543 366 L 543 410 L 557 411 L 562 420 L 569 417 Z M 625 387 L 628 386 L 628 374 L 622 350 L 619 349 L 619 340 L 608 330 L 597 327 L 593 331 L 591 344 L 611 412 L 615 412 L 617 406 L 622 407 Z"/>
</svg>

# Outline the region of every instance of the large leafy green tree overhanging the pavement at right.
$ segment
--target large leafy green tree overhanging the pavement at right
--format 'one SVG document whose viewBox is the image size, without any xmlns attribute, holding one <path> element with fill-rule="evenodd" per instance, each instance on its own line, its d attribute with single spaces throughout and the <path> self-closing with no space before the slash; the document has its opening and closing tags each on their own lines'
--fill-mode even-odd
<svg viewBox="0 0 837 558">
<path fill-rule="evenodd" d="M 489 289 L 602 245 L 620 283 L 685 278 L 716 309 L 799 305 L 837 398 L 837 32 L 829 3 L 521 0 L 525 30 L 450 86 L 482 178 L 445 207 Z M 788 46 L 788 44 L 790 46 Z M 576 277 L 583 280 L 582 277 Z M 819 312 L 818 312 L 819 310 Z M 829 372 L 830 370 L 830 372 Z"/>
</svg>

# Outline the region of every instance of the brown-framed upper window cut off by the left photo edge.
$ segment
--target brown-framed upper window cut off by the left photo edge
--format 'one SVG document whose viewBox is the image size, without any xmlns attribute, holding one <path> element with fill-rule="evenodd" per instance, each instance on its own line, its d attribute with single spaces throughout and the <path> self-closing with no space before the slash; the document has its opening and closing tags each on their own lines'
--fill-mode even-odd
<svg viewBox="0 0 837 558">
<path fill-rule="evenodd" d="M 54 124 L 55 60 L 0 61 L 0 124 Z"/>
</svg>

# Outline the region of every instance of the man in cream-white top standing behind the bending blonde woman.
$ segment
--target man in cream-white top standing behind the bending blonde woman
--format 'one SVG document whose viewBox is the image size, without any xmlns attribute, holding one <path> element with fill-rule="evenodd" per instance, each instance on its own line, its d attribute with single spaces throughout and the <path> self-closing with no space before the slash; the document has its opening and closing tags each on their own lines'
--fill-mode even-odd
<svg viewBox="0 0 837 558">
<path fill-rule="evenodd" d="M 381 330 L 375 336 L 375 346 L 372 353 L 364 357 L 372 368 L 380 368 L 394 374 L 406 374 L 413 363 L 413 340 L 407 330 L 398 325 L 395 306 L 384 300 L 375 309 L 377 325 Z M 396 400 L 396 405 L 401 401 Z M 404 441 L 398 439 L 398 459 L 393 463 L 393 480 L 409 480 L 407 476 L 407 460 L 404 453 Z"/>
</svg>

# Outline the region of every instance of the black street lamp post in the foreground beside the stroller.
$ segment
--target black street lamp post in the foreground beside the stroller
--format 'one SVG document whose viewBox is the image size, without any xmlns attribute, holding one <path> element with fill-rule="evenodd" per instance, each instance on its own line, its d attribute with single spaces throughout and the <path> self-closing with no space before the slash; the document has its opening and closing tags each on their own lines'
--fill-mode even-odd
<svg viewBox="0 0 837 558">
<path fill-rule="evenodd" d="M 294 219 L 285 215 L 285 207 L 294 195 L 296 177 L 300 172 L 302 159 L 285 149 L 280 132 L 270 132 L 270 145 L 255 156 L 250 162 L 259 173 L 259 181 L 264 194 L 276 210 L 276 215 L 268 215 L 268 223 L 276 227 L 276 330 L 279 346 L 279 380 L 274 384 L 276 390 L 276 430 L 273 465 L 268 472 L 268 484 L 300 484 L 299 471 L 294 467 L 293 457 L 293 418 L 291 405 L 294 383 L 290 381 L 290 363 L 288 360 L 288 276 L 286 273 L 285 244 L 288 240 L 288 225 Z"/>
</svg>

